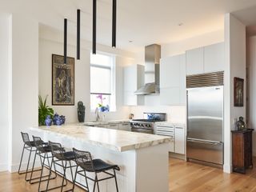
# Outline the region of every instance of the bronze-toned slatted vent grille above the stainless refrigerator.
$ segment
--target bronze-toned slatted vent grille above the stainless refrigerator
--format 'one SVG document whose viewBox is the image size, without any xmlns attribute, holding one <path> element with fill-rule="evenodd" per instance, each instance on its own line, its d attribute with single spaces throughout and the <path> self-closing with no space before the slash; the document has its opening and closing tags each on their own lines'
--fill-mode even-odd
<svg viewBox="0 0 256 192">
<path fill-rule="evenodd" d="M 186 88 L 203 86 L 223 86 L 224 72 L 215 72 L 209 74 L 194 74 L 186 76 Z"/>
</svg>

